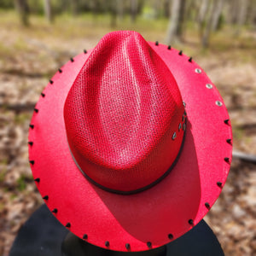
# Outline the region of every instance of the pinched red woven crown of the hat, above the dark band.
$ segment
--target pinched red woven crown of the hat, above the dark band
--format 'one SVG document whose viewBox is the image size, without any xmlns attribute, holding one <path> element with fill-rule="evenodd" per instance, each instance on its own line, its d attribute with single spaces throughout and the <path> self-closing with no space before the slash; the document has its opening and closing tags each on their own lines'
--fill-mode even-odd
<svg viewBox="0 0 256 256">
<path fill-rule="evenodd" d="M 176 159 L 183 111 L 172 73 L 143 37 L 108 33 L 84 63 L 65 102 L 73 158 L 104 188 L 142 189 Z"/>
</svg>

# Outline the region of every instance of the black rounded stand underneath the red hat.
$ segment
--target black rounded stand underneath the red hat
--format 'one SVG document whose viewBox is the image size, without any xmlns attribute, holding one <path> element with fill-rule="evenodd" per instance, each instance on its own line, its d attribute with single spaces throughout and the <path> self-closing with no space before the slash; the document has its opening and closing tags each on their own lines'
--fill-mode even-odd
<svg viewBox="0 0 256 256">
<path fill-rule="evenodd" d="M 125 253 L 96 247 L 74 236 L 49 212 L 39 207 L 21 227 L 9 256 L 222 256 L 224 252 L 204 220 L 185 235 L 156 249 Z"/>
</svg>

